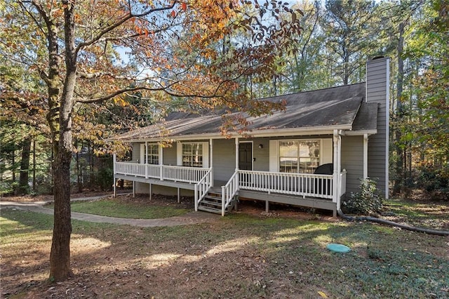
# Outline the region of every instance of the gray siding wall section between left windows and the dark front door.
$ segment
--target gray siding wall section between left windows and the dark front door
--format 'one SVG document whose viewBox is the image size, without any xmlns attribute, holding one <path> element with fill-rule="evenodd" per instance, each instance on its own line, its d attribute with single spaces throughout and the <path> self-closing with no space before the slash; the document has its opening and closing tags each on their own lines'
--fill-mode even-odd
<svg viewBox="0 0 449 299">
<path fill-rule="evenodd" d="M 235 139 L 213 140 L 213 179 L 227 182 L 236 170 Z"/>
</svg>

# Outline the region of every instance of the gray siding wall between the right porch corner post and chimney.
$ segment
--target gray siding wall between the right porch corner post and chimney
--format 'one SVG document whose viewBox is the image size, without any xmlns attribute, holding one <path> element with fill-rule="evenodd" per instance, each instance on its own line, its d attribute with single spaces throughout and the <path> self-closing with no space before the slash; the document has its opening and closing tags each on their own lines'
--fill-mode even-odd
<svg viewBox="0 0 449 299">
<path fill-rule="evenodd" d="M 346 169 L 346 195 L 357 192 L 363 178 L 363 136 L 342 136 L 342 169 Z"/>
</svg>

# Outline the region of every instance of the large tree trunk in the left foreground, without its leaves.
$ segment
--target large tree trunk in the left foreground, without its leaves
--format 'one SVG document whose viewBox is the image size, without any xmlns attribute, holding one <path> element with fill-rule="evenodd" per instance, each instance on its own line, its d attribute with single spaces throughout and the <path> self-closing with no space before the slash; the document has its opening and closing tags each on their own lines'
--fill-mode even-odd
<svg viewBox="0 0 449 299">
<path fill-rule="evenodd" d="M 64 8 L 66 75 L 60 102 L 60 133 L 55 161 L 55 220 L 50 253 L 50 277 L 64 281 L 72 276 L 70 268 L 70 161 L 72 160 L 72 110 L 76 83 L 74 49 L 74 1 Z"/>
</svg>

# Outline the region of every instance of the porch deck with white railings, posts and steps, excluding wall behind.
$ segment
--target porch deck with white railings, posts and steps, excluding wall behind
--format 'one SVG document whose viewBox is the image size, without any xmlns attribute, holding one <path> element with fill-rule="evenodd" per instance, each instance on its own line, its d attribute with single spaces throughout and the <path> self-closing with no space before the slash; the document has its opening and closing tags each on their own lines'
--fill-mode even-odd
<svg viewBox="0 0 449 299">
<path fill-rule="evenodd" d="M 213 140 L 210 140 L 210 167 L 165 165 L 162 164 L 163 159 L 159 159 L 159 164 L 147 164 L 147 159 L 116 161 L 114 155 L 114 181 L 130 180 L 133 182 L 133 190 L 136 182 L 146 183 L 149 185 L 150 197 L 154 185 L 176 188 L 178 199 L 180 190 L 192 190 L 195 211 L 214 209 L 215 213 L 222 215 L 225 215 L 239 198 L 265 201 L 267 208 L 269 202 L 273 202 L 322 208 L 336 213 L 340 198 L 346 192 L 347 175 L 346 171 L 340 171 L 338 165 L 335 165 L 333 174 L 243 170 L 239 169 L 239 143 L 239 139 L 235 138 L 236 167 L 227 180 L 222 180 L 220 175 L 214 175 L 214 172 L 220 169 L 213 166 Z M 338 147 L 335 146 L 335 154 L 337 151 Z M 160 153 L 162 157 L 162 147 Z M 114 183 L 114 194 L 115 192 Z"/>
</svg>

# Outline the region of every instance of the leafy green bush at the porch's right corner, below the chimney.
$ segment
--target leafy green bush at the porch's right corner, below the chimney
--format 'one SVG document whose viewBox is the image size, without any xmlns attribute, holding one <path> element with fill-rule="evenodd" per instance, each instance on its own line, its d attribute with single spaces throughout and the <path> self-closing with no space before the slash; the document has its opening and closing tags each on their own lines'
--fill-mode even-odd
<svg viewBox="0 0 449 299">
<path fill-rule="evenodd" d="M 343 207 L 346 213 L 370 215 L 380 213 L 382 200 L 375 180 L 366 178 L 360 180 L 360 190 L 357 193 L 351 192 L 351 197 L 343 202 Z"/>
</svg>

